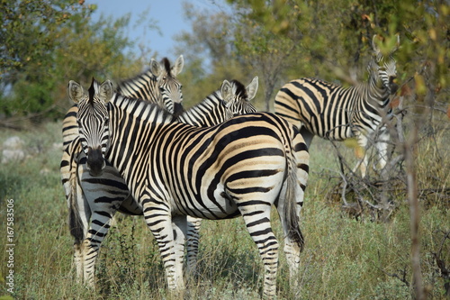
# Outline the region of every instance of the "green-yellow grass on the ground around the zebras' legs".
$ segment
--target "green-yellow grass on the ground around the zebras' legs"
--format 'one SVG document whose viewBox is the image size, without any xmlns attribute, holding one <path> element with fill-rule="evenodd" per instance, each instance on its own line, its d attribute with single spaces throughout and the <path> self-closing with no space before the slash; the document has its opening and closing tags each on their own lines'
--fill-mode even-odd
<svg viewBox="0 0 450 300">
<path fill-rule="evenodd" d="M 10 136 L 24 141 L 27 158 L 0 168 L 0 218 L 14 199 L 14 298 L 16 299 L 172 299 L 157 244 L 139 217 L 119 216 L 103 243 L 97 263 L 97 289 L 77 286 L 72 268 L 73 240 L 59 181 L 60 123 L 28 132 L 0 132 L 0 147 Z M 450 264 L 448 203 L 448 127 L 433 136 L 420 132 L 417 172 L 420 198 L 421 271 L 430 299 L 446 299 L 450 279 L 437 268 Z M 409 299 L 410 213 L 402 187 L 387 222 L 351 217 L 330 191 L 338 185 L 338 161 L 327 141 L 315 139 L 311 179 L 302 210 L 306 247 L 299 272 L 300 290 L 289 286 L 281 254 L 279 299 Z M 340 145 L 347 157 L 351 150 Z M 0 149 L 1 150 L 1 149 Z M 275 234 L 281 226 L 274 212 Z M 11 295 L 4 278 L 6 224 L 0 223 L 0 297 Z M 262 264 L 241 218 L 205 221 L 201 230 L 200 274 L 190 278 L 186 299 L 256 299 L 262 290 Z"/>
</svg>

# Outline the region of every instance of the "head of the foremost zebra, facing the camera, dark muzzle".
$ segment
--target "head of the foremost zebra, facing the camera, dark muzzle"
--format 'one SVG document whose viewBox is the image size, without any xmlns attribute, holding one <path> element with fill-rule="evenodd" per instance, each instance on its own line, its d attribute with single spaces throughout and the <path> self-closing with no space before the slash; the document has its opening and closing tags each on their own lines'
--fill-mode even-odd
<svg viewBox="0 0 450 300">
<path fill-rule="evenodd" d="M 106 104 L 114 94 L 112 82 L 106 80 L 100 85 L 93 78 L 86 95 L 81 85 L 70 80 L 67 92 L 69 98 L 78 105 L 76 122 L 81 146 L 87 158 L 86 168 L 91 176 L 100 176 L 106 166 L 104 153 L 109 141 L 109 114 Z"/>
</svg>

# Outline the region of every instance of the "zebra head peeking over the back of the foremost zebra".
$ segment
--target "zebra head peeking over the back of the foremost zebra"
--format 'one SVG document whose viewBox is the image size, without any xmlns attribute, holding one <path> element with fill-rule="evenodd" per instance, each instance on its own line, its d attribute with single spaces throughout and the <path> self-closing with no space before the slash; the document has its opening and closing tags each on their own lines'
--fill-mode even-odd
<svg viewBox="0 0 450 300">
<path fill-rule="evenodd" d="M 257 80 L 257 76 L 254 77 L 247 87 L 238 80 L 231 80 L 231 82 L 228 80 L 223 81 L 220 86 L 220 94 L 227 107 L 226 120 L 239 114 L 251 114 L 257 112 L 255 106 L 250 103 L 250 100 L 257 95 Z"/>
</svg>

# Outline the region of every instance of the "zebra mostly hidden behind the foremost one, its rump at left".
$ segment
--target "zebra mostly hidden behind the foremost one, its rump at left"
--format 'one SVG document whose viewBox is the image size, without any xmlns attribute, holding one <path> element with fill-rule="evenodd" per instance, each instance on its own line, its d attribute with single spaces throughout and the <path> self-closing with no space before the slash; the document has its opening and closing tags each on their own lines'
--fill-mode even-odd
<svg viewBox="0 0 450 300">
<path fill-rule="evenodd" d="M 145 97 L 146 100 L 161 105 L 171 113 L 175 113 L 175 110 L 179 111 L 179 106 L 181 106 L 181 101 L 183 100 L 181 92 L 182 85 L 176 79 L 176 75 L 182 71 L 183 66 L 184 59 L 182 55 L 176 59 L 173 67 L 170 67 L 170 63 L 166 58 L 161 60 L 161 64 L 155 59 L 151 59 L 150 67 L 147 71 L 137 77 L 124 81 L 123 84 L 119 85 L 119 90 L 125 95 Z M 172 104 L 171 97 L 176 99 L 179 104 Z M 89 260 L 91 256 L 96 256 L 96 254 L 94 251 L 87 255 L 87 257 L 84 257 L 84 252 L 82 251 L 82 241 L 83 237 L 87 234 L 91 215 L 102 214 L 101 211 L 97 211 L 98 207 L 102 207 L 102 205 L 116 205 L 117 201 L 114 202 L 114 199 L 127 199 L 124 201 L 125 208 L 123 210 L 125 213 L 142 213 L 139 207 L 133 205 L 134 201 L 127 198 L 129 197 L 130 192 L 128 191 L 128 188 L 124 186 L 124 183 L 114 180 L 114 175 L 117 171 L 112 170 L 110 172 L 112 175 L 106 173 L 103 178 L 86 178 L 82 176 L 83 167 L 85 167 L 85 157 L 80 155 L 81 144 L 78 141 L 79 132 L 76 123 L 77 112 L 77 105 L 72 106 L 68 110 L 63 121 L 62 132 L 64 150 L 61 159 L 60 172 L 62 183 L 65 188 L 67 205 L 69 205 L 69 207 L 71 207 L 71 205 L 76 205 L 77 209 L 83 212 L 83 214 L 69 215 L 70 232 L 72 236 L 75 237 L 74 262 L 76 265 L 76 278 L 79 280 L 85 277 L 85 282 L 91 282 L 91 286 L 93 286 L 94 261 L 92 262 L 93 268 L 90 268 L 89 266 L 85 268 L 85 260 Z M 105 189 L 101 189 L 104 185 L 110 187 L 107 192 L 104 192 Z M 99 188 L 100 192 L 98 190 Z M 99 194 L 100 196 L 97 196 Z M 99 232 L 98 234 L 101 235 L 102 232 Z"/>
</svg>

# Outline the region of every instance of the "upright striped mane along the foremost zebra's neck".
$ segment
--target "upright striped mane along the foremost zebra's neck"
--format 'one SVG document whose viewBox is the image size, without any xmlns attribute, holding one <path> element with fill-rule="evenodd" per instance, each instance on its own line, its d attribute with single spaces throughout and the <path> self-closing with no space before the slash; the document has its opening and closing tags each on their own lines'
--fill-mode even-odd
<svg viewBox="0 0 450 300">
<path fill-rule="evenodd" d="M 115 93 L 109 104 L 111 103 L 128 114 L 151 122 L 172 123 L 175 121 L 174 116 L 167 112 L 165 108 L 139 98 L 130 98 L 120 93 Z"/>
</svg>

